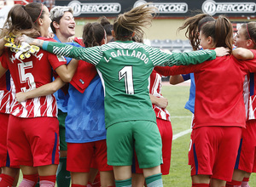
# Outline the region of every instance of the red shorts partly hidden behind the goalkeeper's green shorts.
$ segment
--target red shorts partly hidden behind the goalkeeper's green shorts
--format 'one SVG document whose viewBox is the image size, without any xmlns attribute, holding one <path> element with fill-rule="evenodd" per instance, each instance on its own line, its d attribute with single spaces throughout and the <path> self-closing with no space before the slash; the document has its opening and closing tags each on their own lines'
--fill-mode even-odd
<svg viewBox="0 0 256 187">
<path fill-rule="evenodd" d="M 172 152 L 172 124 L 166 120 L 156 118 L 157 127 L 159 128 L 162 139 L 162 156 L 163 164 L 160 165 L 162 175 L 169 174 L 171 166 L 171 152 Z M 132 164 L 132 173 L 143 173 L 143 169 L 139 167 L 137 156 L 134 154 Z"/>
</svg>

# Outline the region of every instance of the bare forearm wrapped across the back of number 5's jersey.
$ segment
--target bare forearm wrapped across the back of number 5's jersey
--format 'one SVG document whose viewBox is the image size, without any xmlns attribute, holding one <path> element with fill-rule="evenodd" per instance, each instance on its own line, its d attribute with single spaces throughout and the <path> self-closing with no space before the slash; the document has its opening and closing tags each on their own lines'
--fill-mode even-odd
<svg viewBox="0 0 256 187">
<path fill-rule="evenodd" d="M 44 84 L 39 88 L 32 89 L 27 92 L 16 93 L 16 99 L 18 102 L 25 101 L 26 99 L 38 98 L 49 94 L 54 94 L 58 89 L 63 87 L 66 82 L 63 82 L 60 77 L 57 77 L 54 82 Z"/>
</svg>

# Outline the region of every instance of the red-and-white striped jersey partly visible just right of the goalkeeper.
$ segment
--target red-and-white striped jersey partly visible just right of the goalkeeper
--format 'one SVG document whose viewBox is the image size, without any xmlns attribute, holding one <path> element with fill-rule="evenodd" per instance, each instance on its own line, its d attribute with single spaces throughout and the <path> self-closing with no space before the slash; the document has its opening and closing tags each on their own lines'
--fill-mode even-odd
<svg viewBox="0 0 256 187">
<path fill-rule="evenodd" d="M 150 83 L 149 94 L 162 98 L 163 96 L 161 94 L 161 87 L 162 87 L 161 75 L 153 70 L 149 77 L 149 83 Z M 154 104 L 152 104 L 152 107 L 154 109 L 154 113 L 157 118 L 171 122 L 170 114 L 166 109 L 160 108 L 159 106 Z"/>
</svg>

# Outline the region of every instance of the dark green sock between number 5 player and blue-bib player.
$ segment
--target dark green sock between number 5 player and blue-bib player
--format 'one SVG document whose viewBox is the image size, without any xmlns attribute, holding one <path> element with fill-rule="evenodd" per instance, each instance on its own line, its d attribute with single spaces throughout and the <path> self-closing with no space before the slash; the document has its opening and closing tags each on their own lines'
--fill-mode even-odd
<svg viewBox="0 0 256 187">
<path fill-rule="evenodd" d="M 70 172 L 67 171 L 67 158 L 60 158 L 60 163 L 57 169 L 56 182 L 58 186 L 69 187 L 70 186 Z"/>
</svg>

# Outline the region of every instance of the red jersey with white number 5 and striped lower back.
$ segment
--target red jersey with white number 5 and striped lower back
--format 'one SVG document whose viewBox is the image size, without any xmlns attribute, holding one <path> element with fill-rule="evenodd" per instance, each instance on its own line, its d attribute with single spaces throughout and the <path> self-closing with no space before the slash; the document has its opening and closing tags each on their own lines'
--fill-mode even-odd
<svg viewBox="0 0 256 187">
<path fill-rule="evenodd" d="M 40 37 L 42 39 L 42 37 Z M 44 40 L 49 40 L 43 38 Z M 52 39 L 51 39 L 52 41 Z M 3 68 L 9 69 L 15 82 L 16 92 L 26 92 L 51 82 L 52 69 L 66 65 L 66 59 L 40 49 L 28 59 L 15 59 L 15 53 L 5 51 L 1 61 Z M 57 116 L 56 100 L 53 94 L 27 99 L 12 106 L 11 114 L 18 117 Z"/>
</svg>

